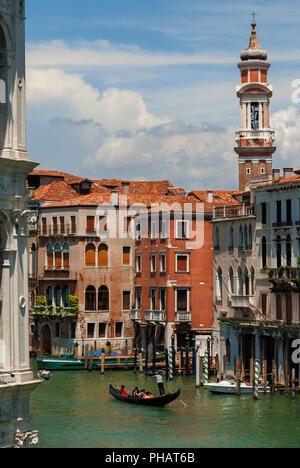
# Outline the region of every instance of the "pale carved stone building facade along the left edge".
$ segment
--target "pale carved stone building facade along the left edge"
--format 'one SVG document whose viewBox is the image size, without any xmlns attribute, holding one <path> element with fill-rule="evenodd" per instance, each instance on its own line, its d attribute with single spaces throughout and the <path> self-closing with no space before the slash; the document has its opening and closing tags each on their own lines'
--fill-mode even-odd
<svg viewBox="0 0 300 468">
<path fill-rule="evenodd" d="M 0 448 L 37 442 L 29 361 L 25 2 L 0 0 Z"/>
</svg>

